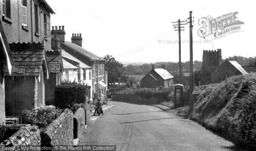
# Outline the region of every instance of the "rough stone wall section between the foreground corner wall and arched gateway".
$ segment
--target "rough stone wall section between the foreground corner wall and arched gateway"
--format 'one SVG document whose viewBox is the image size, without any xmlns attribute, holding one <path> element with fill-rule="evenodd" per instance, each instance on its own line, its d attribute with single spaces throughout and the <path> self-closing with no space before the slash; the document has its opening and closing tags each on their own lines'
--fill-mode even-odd
<svg viewBox="0 0 256 151">
<path fill-rule="evenodd" d="M 46 129 L 42 129 L 41 140 L 41 146 L 46 147 L 73 145 L 73 112 L 66 109 Z"/>
</svg>

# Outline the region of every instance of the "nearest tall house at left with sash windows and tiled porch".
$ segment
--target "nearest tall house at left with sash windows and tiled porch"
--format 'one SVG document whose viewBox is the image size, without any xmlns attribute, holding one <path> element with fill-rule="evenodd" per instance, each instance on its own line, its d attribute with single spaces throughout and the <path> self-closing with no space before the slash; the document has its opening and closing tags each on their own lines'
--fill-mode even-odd
<svg viewBox="0 0 256 151">
<path fill-rule="evenodd" d="M 45 0 L 0 0 L 0 20 L 12 51 L 12 72 L 5 72 L 6 115 L 44 104 L 49 68 L 45 51 L 51 50 L 50 14 Z"/>
</svg>

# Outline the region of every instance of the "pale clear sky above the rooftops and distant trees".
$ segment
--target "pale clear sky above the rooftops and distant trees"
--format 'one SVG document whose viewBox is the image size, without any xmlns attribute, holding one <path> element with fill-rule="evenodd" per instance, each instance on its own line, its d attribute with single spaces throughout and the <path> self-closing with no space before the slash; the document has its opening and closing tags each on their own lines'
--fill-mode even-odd
<svg viewBox="0 0 256 151">
<path fill-rule="evenodd" d="M 178 34 L 173 25 L 187 20 L 192 11 L 193 60 L 202 61 L 203 50 L 222 50 L 229 56 L 256 56 L 256 20 L 253 1 L 244 0 L 47 0 L 56 14 L 51 25 L 64 25 L 66 41 L 81 33 L 82 47 L 119 62 L 178 62 Z M 198 36 L 198 20 L 238 12 L 241 32 L 218 39 Z M 185 22 L 184 22 L 185 23 Z M 189 61 L 189 25 L 181 31 L 181 61 Z M 168 43 L 168 42 L 169 43 Z"/>
</svg>

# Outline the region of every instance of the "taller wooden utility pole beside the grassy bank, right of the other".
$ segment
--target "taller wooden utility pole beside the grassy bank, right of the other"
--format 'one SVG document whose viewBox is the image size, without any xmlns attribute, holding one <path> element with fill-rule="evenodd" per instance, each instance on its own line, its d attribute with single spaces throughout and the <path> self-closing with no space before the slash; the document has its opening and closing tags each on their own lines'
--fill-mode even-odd
<svg viewBox="0 0 256 151">
<path fill-rule="evenodd" d="M 192 11 L 189 11 L 189 48 L 190 48 L 190 62 L 189 62 L 189 93 L 190 93 L 190 106 L 189 110 L 194 109 L 194 96 L 192 92 L 194 91 L 194 78 L 193 78 L 193 36 L 192 36 Z"/>
</svg>

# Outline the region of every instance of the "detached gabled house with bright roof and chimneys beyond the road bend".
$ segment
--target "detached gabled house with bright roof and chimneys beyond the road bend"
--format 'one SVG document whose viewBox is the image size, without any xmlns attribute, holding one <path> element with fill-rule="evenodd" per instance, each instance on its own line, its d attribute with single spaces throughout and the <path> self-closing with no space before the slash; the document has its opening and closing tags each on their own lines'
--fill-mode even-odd
<svg viewBox="0 0 256 151">
<path fill-rule="evenodd" d="M 140 81 L 140 87 L 163 87 L 168 88 L 172 87 L 174 84 L 174 77 L 165 70 L 165 64 L 162 65 L 162 68 L 154 68 L 152 64 L 152 69 L 147 73 Z"/>
</svg>

